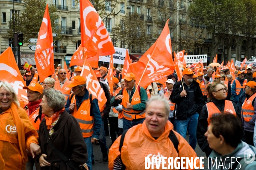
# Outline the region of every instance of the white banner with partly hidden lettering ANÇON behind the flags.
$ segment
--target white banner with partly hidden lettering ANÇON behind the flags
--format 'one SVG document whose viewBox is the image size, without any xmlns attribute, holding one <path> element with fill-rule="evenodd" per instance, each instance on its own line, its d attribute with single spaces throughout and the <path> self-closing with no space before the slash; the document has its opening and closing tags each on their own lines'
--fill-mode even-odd
<svg viewBox="0 0 256 170">
<path fill-rule="evenodd" d="M 115 47 L 115 54 L 113 54 L 113 63 L 124 64 L 125 54 L 127 49 Z M 99 61 L 110 62 L 110 55 L 100 56 Z"/>
</svg>

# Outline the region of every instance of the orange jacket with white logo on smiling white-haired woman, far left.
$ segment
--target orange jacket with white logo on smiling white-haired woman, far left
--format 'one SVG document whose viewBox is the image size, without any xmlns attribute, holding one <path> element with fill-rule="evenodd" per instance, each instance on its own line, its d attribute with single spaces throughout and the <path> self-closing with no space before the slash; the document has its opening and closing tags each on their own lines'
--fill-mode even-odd
<svg viewBox="0 0 256 170">
<path fill-rule="evenodd" d="M 0 155 L 5 170 L 25 170 L 27 150 L 30 144 L 38 144 L 38 133 L 31 124 L 26 111 L 12 103 L 0 114 Z"/>
</svg>

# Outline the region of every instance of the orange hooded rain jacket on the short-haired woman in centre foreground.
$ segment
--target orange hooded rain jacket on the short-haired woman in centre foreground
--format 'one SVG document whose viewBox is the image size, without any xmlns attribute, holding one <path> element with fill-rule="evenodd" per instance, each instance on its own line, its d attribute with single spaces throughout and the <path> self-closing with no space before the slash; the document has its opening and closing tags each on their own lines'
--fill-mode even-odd
<svg viewBox="0 0 256 170">
<path fill-rule="evenodd" d="M 165 130 L 159 138 L 153 138 L 146 126 L 146 122 L 138 124 L 130 128 L 124 138 L 124 145 L 121 150 L 121 158 L 123 164 L 126 166 L 126 170 L 144 170 L 145 169 L 145 157 L 162 156 L 162 157 L 197 157 L 192 147 L 188 142 L 182 138 L 179 133 L 175 132 L 179 141 L 178 150 L 179 154 L 174 148 L 168 135 L 173 130 L 173 125 L 170 121 L 165 124 Z M 109 169 L 113 170 L 113 164 L 115 159 L 120 155 L 119 144 L 121 136 L 119 136 L 112 147 L 109 149 Z M 168 161 L 167 161 L 168 162 Z M 199 160 L 196 161 L 197 167 L 199 167 Z M 165 164 L 168 167 L 168 163 Z M 184 167 L 186 165 L 184 164 Z M 151 167 L 150 167 L 151 169 Z M 156 166 L 154 166 L 156 170 Z M 160 170 L 162 170 L 162 163 L 160 164 Z M 189 169 L 190 170 L 190 169 Z"/>
</svg>

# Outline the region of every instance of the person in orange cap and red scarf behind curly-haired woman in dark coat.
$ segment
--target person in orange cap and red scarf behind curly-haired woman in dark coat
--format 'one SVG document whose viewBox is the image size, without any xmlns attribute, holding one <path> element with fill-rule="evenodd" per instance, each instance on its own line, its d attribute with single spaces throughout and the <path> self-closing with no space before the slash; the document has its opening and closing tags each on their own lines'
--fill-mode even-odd
<svg viewBox="0 0 256 170">
<path fill-rule="evenodd" d="M 35 130 L 39 132 L 41 120 L 44 118 L 44 114 L 42 115 L 42 109 L 39 106 L 42 101 L 43 87 L 35 81 L 31 81 L 29 86 L 24 86 L 23 89 L 27 89 L 26 96 L 29 101 L 26 106 L 26 113 Z M 40 170 L 40 164 L 36 161 L 36 158 L 33 158 L 31 153 L 29 153 L 27 157 L 28 161 L 26 162 L 26 170 L 33 170 L 34 164 L 36 170 Z"/>
</svg>

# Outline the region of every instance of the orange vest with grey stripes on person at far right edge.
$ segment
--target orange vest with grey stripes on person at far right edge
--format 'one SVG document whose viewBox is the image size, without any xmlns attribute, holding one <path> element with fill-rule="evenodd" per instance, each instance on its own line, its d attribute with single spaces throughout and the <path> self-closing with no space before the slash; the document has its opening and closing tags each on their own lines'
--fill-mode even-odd
<svg viewBox="0 0 256 170">
<path fill-rule="evenodd" d="M 247 100 L 245 98 L 244 103 L 242 105 L 242 114 L 244 121 L 250 121 L 251 118 L 253 118 L 254 115 L 254 107 L 253 107 L 253 99 L 256 97 L 256 93 L 250 96 L 250 98 Z"/>
</svg>

